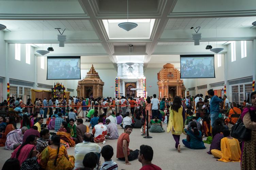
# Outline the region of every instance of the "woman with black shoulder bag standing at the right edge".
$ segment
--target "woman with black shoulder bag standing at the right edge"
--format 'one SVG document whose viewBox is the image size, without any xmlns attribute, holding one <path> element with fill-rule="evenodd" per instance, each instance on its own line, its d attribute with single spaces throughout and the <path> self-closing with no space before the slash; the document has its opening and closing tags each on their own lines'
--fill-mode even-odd
<svg viewBox="0 0 256 170">
<path fill-rule="evenodd" d="M 245 107 L 242 120 L 245 128 L 252 130 L 251 140 L 243 141 L 241 154 L 241 169 L 256 169 L 256 92 L 251 94 L 252 106 Z"/>
</svg>

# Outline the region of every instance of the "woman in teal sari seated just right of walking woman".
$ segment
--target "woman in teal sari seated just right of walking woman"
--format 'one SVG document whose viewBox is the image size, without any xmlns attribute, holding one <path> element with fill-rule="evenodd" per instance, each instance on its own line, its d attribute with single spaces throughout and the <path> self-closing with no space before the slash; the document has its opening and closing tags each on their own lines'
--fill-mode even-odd
<svg viewBox="0 0 256 170">
<path fill-rule="evenodd" d="M 202 132 L 198 131 L 196 122 L 191 122 L 191 130 L 187 132 L 187 139 L 183 139 L 182 143 L 190 149 L 205 149 Z"/>
</svg>

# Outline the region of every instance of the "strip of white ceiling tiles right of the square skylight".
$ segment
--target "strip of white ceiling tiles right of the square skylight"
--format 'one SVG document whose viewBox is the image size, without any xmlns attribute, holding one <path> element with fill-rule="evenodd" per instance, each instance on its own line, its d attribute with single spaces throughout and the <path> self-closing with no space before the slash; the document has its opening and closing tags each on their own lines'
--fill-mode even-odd
<svg viewBox="0 0 256 170">
<path fill-rule="evenodd" d="M 251 28 L 256 17 L 225 17 L 225 18 L 171 18 L 165 27 L 166 30 L 190 29 L 200 26 L 201 29 L 217 28 Z M 199 31 L 200 32 L 200 31 Z"/>
</svg>

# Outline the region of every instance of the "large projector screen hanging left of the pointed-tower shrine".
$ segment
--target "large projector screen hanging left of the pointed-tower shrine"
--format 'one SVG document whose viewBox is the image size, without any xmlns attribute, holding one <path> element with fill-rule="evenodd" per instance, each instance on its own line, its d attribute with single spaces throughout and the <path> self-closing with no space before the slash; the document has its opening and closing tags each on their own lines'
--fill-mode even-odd
<svg viewBox="0 0 256 170">
<path fill-rule="evenodd" d="M 47 80 L 81 79 L 80 56 L 47 56 Z"/>
</svg>

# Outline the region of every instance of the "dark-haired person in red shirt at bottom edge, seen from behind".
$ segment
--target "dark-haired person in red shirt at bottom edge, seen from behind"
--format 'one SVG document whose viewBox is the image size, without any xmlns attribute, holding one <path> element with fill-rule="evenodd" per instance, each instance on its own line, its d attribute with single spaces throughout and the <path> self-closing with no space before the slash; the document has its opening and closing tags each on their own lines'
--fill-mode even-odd
<svg viewBox="0 0 256 170">
<path fill-rule="evenodd" d="M 160 167 L 151 163 L 153 159 L 153 149 L 148 145 L 140 146 L 138 159 L 142 164 L 142 168 L 140 170 L 162 170 Z"/>
</svg>

